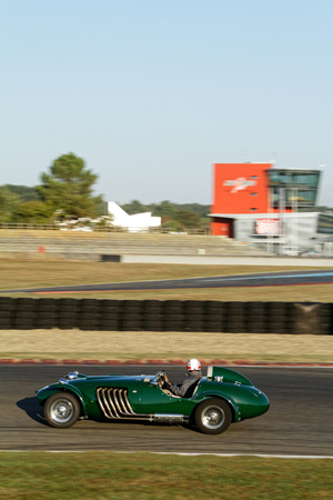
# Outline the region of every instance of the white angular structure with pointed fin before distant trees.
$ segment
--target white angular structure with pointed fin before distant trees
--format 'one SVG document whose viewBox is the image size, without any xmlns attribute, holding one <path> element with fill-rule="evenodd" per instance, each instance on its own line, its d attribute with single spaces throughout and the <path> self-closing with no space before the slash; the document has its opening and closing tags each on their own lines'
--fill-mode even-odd
<svg viewBox="0 0 333 500">
<path fill-rule="evenodd" d="M 148 231 L 150 228 L 159 228 L 161 226 L 160 217 L 152 217 L 151 212 L 129 216 L 114 201 L 108 201 L 107 210 L 108 214 L 113 216 L 113 226 L 128 229 L 130 232 Z"/>
</svg>

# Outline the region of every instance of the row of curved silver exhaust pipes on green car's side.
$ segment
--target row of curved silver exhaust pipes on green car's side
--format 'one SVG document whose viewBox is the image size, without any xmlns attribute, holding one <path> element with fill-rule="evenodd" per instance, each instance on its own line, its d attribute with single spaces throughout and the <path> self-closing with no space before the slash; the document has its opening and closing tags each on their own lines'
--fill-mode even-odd
<svg viewBox="0 0 333 500">
<path fill-rule="evenodd" d="M 97 400 L 102 413 L 108 419 L 121 419 L 135 416 L 128 400 L 128 390 L 121 388 L 100 387 Z"/>
</svg>

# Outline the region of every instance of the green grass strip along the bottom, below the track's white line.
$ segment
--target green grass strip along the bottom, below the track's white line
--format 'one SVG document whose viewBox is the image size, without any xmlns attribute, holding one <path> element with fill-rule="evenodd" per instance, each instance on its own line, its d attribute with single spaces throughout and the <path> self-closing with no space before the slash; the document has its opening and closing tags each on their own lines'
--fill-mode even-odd
<svg viewBox="0 0 333 500">
<path fill-rule="evenodd" d="M 38 472 L 37 472 L 38 471 Z M 87 452 L 0 454 L 7 500 L 331 499 L 333 461 Z"/>
</svg>

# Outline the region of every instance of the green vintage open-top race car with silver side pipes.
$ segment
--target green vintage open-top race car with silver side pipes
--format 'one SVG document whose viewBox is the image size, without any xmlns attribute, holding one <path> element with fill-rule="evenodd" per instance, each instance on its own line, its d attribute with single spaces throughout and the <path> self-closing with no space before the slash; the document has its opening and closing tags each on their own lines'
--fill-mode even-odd
<svg viewBox="0 0 333 500">
<path fill-rule="evenodd" d="M 186 398 L 164 388 L 168 376 L 108 374 L 92 377 L 70 372 L 37 392 L 50 426 L 71 427 L 78 419 L 189 422 L 206 434 L 219 434 L 230 423 L 265 413 L 268 397 L 241 373 L 208 367 Z"/>
</svg>

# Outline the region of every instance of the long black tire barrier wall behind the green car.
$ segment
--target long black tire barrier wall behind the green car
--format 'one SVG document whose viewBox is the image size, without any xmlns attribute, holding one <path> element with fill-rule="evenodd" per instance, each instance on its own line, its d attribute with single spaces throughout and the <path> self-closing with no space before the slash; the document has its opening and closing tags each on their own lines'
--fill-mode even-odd
<svg viewBox="0 0 333 500">
<path fill-rule="evenodd" d="M 333 334 L 333 303 L 0 297 L 0 330 Z"/>
</svg>

